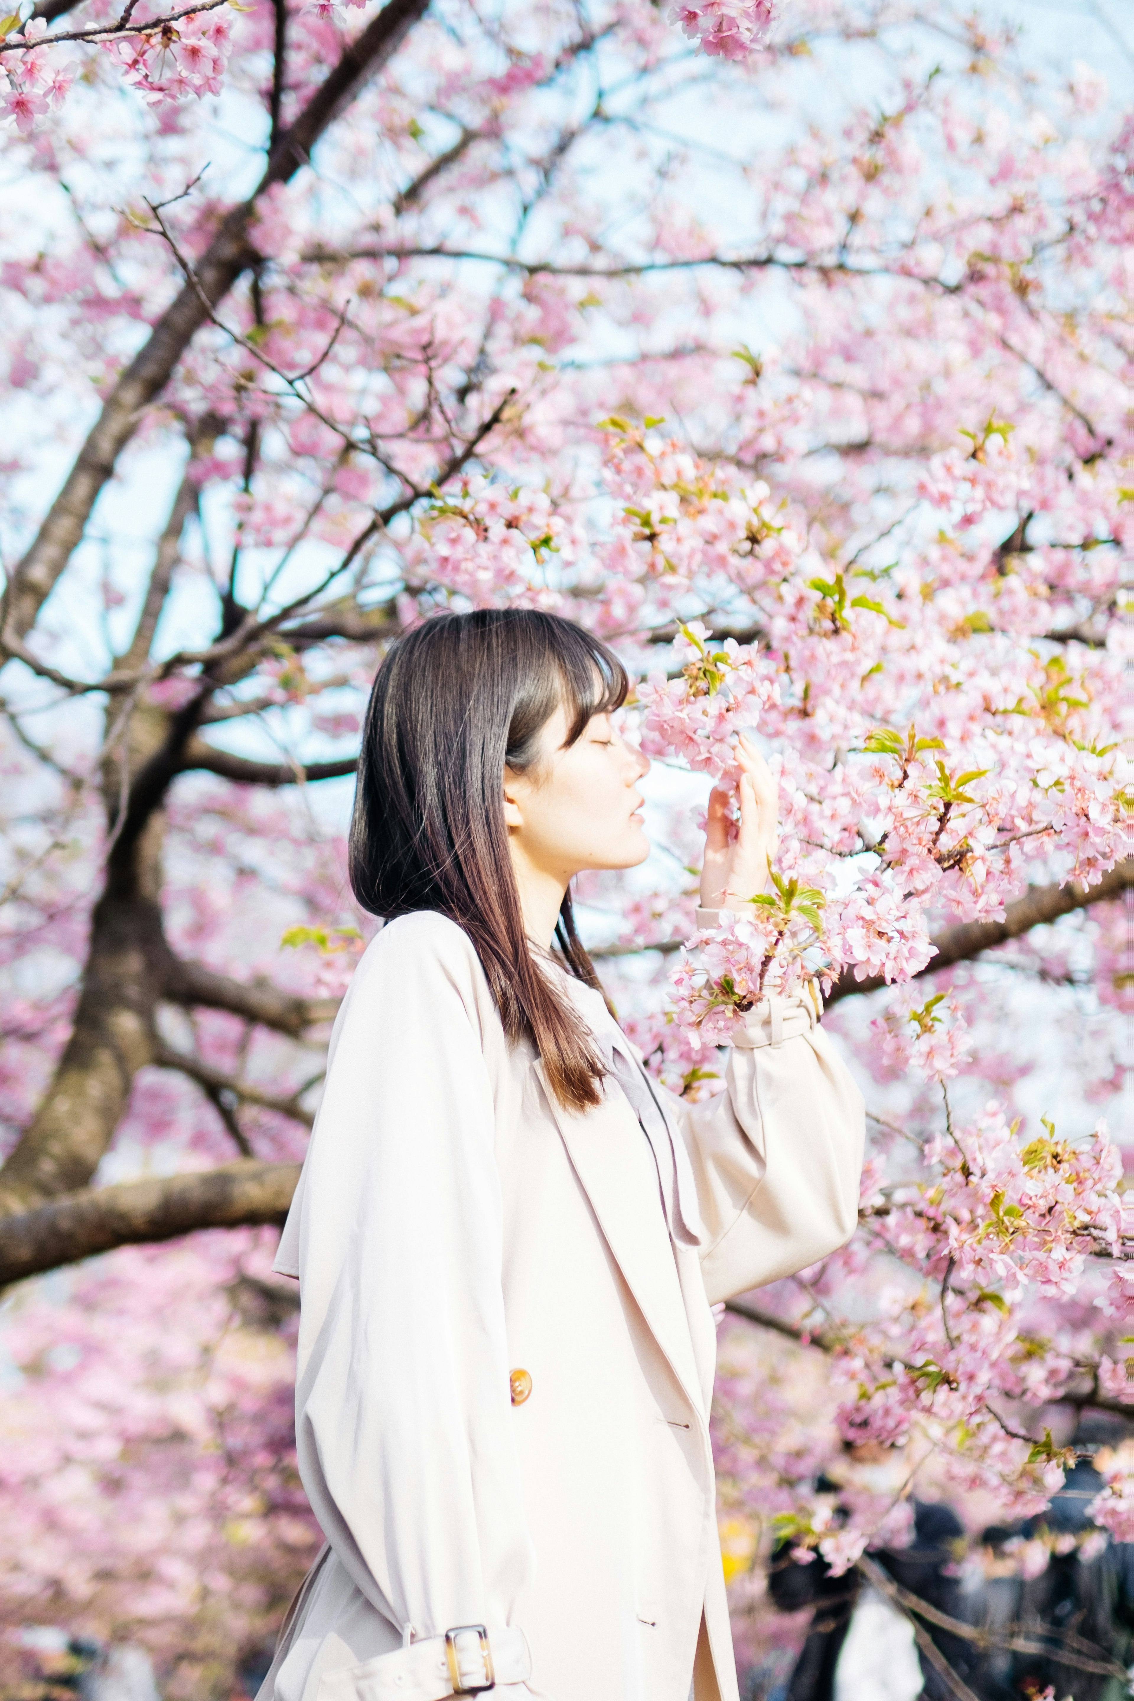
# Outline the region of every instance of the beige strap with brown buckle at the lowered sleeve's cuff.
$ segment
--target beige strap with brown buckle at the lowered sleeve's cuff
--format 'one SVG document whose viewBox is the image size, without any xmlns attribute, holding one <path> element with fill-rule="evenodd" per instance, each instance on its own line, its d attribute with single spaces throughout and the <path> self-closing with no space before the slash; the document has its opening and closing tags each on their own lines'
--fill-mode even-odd
<svg viewBox="0 0 1134 1701">
<path fill-rule="evenodd" d="M 316 1701 L 445 1701 L 445 1696 L 524 1684 L 530 1675 L 532 1655 L 522 1630 L 490 1633 L 483 1624 L 461 1624 L 444 1636 L 379 1653 L 364 1665 L 325 1672 Z"/>
</svg>

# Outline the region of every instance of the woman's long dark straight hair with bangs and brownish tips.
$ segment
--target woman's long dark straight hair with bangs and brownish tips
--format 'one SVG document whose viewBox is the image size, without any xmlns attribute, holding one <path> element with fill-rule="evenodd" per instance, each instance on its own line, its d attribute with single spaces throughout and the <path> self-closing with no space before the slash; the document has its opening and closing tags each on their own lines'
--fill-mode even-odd
<svg viewBox="0 0 1134 1701">
<path fill-rule="evenodd" d="M 440 910 L 471 937 L 505 1033 L 527 1036 L 561 1104 L 598 1102 L 602 1067 L 575 1009 L 532 958 L 503 818 L 503 771 L 539 759 L 559 704 L 568 743 L 627 691 L 622 663 L 573 621 L 534 609 L 435 614 L 393 645 L 374 679 L 350 823 L 350 885 L 374 915 Z M 556 942 L 598 978 L 571 895 Z"/>
</svg>

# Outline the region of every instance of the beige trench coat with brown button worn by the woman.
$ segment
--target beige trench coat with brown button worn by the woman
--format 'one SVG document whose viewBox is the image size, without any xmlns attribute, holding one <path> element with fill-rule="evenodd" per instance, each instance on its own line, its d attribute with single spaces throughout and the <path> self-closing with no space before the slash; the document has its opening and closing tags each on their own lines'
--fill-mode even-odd
<svg viewBox="0 0 1134 1701">
<path fill-rule="evenodd" d="M 354 1667 L 471 1623 L 527 1636 L 502 1701 L 736 1701 L 709 1306 L 850 1237 L 862 1099 L 784 1002 L 738 1024 L 726 1094 L 675 1104 L 699 1247 L 621 1089 L 558 1106 L 457 925 L 408 915 L 364 953 L 275 1266 L 328 1548 L 260 1701 L 366 1701 Z"/>
</svg>

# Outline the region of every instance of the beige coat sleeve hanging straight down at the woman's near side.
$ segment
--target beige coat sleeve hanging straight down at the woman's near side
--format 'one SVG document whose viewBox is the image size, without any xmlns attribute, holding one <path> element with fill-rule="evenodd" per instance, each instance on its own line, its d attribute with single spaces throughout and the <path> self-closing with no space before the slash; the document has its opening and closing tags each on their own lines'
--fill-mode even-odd
<svg viewBox="0 0 1134 1701">
<path fill-rule="evenodd" d="M 340 1012 L 277 1259 L 299 1276 L 303 1485 L 359 1590 L 415 1636 L 512 1624 L 532 1570 L 491 1021 L 459 927 L 420 913 L 379 932 Z"/>
</svg>

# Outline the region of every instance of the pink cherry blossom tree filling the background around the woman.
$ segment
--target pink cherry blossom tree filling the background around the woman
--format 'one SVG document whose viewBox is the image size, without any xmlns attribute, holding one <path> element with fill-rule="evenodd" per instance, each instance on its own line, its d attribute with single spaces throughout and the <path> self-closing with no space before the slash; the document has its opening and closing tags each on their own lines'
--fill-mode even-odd
<svg viewBox="0 0 1134 1701">
<path fill-rule="evenodd" d="M 238 1626 L 189 1692 L 309 1553 L 286 1448 L 257 1453 L 284 1361 L 201 1366 L 226 1330 L 270 1356 L 252 1337 L 287 1315 L 265 1225 L 369 927 L 359 713 L 383 646 L 449 606 L 561 611 L 638 680 L 661 849 L 580 903 L 661 1078 L 719 1090 L 736 1012 L 809 985 L 867 1084 L 859 1235 L 734 1306 L 745 1527 L 845 1568 L 927 1473 L 1039 1510 L 1132 1368 L 1093 1126 L 1131 885 L 1134 129 L 1105 83 L 894 0 L 71 10 L 0 29 L 0 1279 L 223 1233 L 116 1252 L 65 1301 L 14 1289 L 12 1611 L 143 1635 L 90 1555 L 97 1505 L 156 1473 L 187 1533 L 146 1584 L 153 1645 L 172 1669 L 202 1589 Z M 741 726 L 780 852 L 699 934 L 699 810 Z M 83 1322 L 107 1283 L 114 1340 Z M 831 1397 L 799 1446 L 743 1369 L 787 1337 Z M 155 1388 L 112 1415 L 131 1352 Z M 90 1444 L 44 1451 L 51 1378 Z M 901 1492 L 833 1521 L 814 1473 L 864 1446 L 908 1461 Z M 1120 1463 L 1093 1516 L 1131 1539 Z M 262 1558 L 243 1601 L 224 1531 Z M 136 1590 L 128 1531 L 114 1555 Z"/>
</svg>

